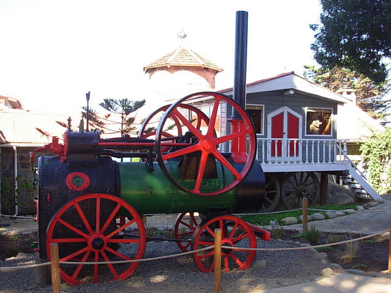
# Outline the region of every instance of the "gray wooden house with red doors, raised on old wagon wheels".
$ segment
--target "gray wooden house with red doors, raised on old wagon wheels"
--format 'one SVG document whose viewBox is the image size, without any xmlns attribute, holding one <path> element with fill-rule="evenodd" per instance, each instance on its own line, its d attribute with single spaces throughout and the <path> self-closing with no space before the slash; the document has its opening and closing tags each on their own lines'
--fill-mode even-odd
<svg viewBox="0 0 391 293">
<path fill-rule="evenodd" d="M 257 159 L 266 175 L 265 210 L 274 209 L 279 201 L 287 208 L 300 206 L 304 196 L 309 205 L 324 200 L 329 174 L 339 176 L 357 196 L 383 201 L 349 160 L 348 140 L 337 139 L 338 106 L 353 99 L 294 72 L 247 84 L 246 91 L 246 111 L 257 133 Z M 233 89 L 219 92 L 232 96 Z M 213 107 L 207 98 L 193 104 L 207 114 Z M 230 106 L 221 103 L 218 116 L 216 130 L 225 135 Z M 357 123 L 352 117 L 347 127 Z"/>
</svg>

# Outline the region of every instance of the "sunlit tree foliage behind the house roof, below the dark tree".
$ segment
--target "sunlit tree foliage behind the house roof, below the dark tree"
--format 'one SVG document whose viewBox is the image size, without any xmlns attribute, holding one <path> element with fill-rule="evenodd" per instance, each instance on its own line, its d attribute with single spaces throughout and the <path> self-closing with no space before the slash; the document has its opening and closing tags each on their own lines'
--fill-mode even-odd
<svg viewBox="0 0 391 293">
<path fill-rule="evenodd" d="M 338 66 L 329 69 L 304 65 L 304 68 L 305 78 L 333 92 L 341 88 L 355 89 L 356 104 L 373 118 L 384 119 L 384 111 L 390 107 L 390 100 L 384 97 L 390 92 L 391 84 L 375 84 L 363 74 Z"/>
</svg>

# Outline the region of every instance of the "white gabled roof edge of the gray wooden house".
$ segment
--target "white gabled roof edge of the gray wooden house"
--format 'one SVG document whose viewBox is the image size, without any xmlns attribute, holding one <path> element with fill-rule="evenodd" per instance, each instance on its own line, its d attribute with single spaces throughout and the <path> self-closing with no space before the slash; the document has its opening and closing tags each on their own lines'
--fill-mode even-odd
<svg viewBox="0 0 391 293">
<path fill-rule="evenodd" d="M 254 83 L 247 84 L 247 93 L 268 92 L 274 90 L 296 89 L 311 95 L 316 95 L 324 99 L 335 101 L 338 103 L 352 102 L 346 97 L 336 94 L 325 87 L 314 84 L 301 76 L 296 75 L 293 71 L 283 73 L 272 78 L 263 79 Z M 232 95 L 233 88 L 219 90 L 218 92 Z"/>
</svg>

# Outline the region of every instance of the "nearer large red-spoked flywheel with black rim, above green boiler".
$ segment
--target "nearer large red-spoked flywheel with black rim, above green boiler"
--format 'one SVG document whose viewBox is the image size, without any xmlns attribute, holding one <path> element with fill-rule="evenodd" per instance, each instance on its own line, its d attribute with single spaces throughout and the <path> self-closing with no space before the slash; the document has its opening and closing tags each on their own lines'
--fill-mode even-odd
<svg viewBox="0 0 391 293">
<path fill-rule="evenodd" d="M 182 109 L 183 104 L 192 102 L 195 105 L 200 102 L 200 106 L 203 107 L 210 105 L 209 122 L 207 125 L 201 125 L 199 129 L 189 121 Z M 220 125 L 222 122 L 221 104 L 230 105 L 239 114 L 238 119 L 229 121 L 231 123 L 230 134 L 220 132 L 220 126 L 228 128 L 225 127 L 225 124 Z M 168 118 L 173 115 L 187 128 L 192 137 L 186 141 L 178 142 L 176 146 L 174 144 L 172 152 L 163 153 L 161 146 L 163 145 L 164 129 L 167 127 Z M 225 155 L 217 149 L 219 145 L 224 145 L 224 148 L 228 149 Z M 184 97 L 167 109 L 156 130 L 155 151 L 160 168 L 175 186 L 194 195 L 215 196 L 237 186 L 250 171 L 256 154 L 255 131 L 246 111 L 234 100 L 215 92 L 200 92 Z M 181 158 L 186 156 L 199 157 L 197 165 L 192 166 L 193 169 L 196 169 L 196 175 L 190 180 L 189 178 L 181 178 L 182 172 L 175 174 L 171 170 L 172 168 L 168 167 L 170 164 L 183 167 Z M 216 187 L 211 191 L 211 183 L 207 179 L 213 178 L 210 175 L 210 169 L 213 164 L 217 169 L 217 163 L 220 163 L 221 168 L 224 167 L 222 173 L 225 175 L 220 176 L 221 178 L 215 178 L 218 179 L 218 182 L 214 183 Z"/>
</svg>

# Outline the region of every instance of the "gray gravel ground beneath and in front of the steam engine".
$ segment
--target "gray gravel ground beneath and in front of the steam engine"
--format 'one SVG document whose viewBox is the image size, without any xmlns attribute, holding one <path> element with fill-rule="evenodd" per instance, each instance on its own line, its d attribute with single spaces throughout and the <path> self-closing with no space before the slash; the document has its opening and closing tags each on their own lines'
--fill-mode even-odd
<svg viewBox="0 0 391 293">
<path fill-rule="evenodd" d="M 258 240 L 259 248 L 284 248 L 294 246 L 291 241 L 268 242 Z M 148 242 L 144 257 L 156 257 L 181 252 L 174 242 Z M 257 251 L 255 261 L 265 259 L 266 268 L 251 266 L 245 271 L 222 273 L 223 293 L 253 292 L 263 289 L 301 284 L 321 278 L 326 267 L 314 249 L 298 251 Z M 35 263 L 36 255 L 0 262 L 2 266 Z M 51 292 L 51 286 L 35 284 L 34 269 L 0 273 L 1 293 Z M 214 274 L 200 272 L 191 255 L 142 262 L 125 281 L 83 284 L 72 287 L 62 283 L 63 293 L 209 293 L 213 292 Z"/>
</svg>

